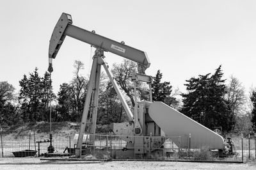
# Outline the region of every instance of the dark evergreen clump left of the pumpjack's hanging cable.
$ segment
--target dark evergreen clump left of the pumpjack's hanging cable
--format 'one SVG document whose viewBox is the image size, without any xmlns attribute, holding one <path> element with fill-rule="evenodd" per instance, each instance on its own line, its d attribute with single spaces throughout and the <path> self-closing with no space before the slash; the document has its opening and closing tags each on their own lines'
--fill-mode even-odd
<svg viewBox="0 0 256 170">
<path fill-rule="evenodd" d="M 29 77 L 24 75 L 19 83 L 22 119 L 25 122 L 48 120 L 49 97 L 54 98 L 49 73 L 45 73 L 42 78 L 38 75 L 38 68 L 35 68 Z"/>
</svg>

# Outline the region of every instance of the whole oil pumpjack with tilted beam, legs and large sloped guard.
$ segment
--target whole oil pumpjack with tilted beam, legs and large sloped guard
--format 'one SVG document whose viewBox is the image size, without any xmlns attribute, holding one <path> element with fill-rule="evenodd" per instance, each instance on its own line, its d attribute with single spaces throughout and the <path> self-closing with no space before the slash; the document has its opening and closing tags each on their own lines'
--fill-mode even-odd
<svg viewBox="0 0 256 170">
<path fill-rule="evenodd" d="M 216 134 L 209 128 L 200 125 L 200 123 L 191 120 L 191 118 L 188 118 L 184 114 L 176 111 L 168 105 L 163 104 L 162 102 L 152 102 L 152 96 L 150 96 L 150 102 L 137 102 L 135 93 L 134 114 L 132 114 L 116 84 L 115 79 L 113 78 L 112 73 L 109 72 L 108 65 L 104 59 L 104 52 L 112 52 L 113 54 L 123 58 L 135 61 L 138 64 L 139 73 L 134 73 L 134 75 L 132 75 L 134 91 L 136 91 L 136 81 L 143 81 L 147 82 L 148 84 L 152 82 L 152 77 L 145 75 L 145 70 L 150 66 L 150 61 L 146 52 L 129 47 L 124 43 L 116 42 L 104 36 L 97 35 L 94 31 L 91 32 L 74 26 L 72 25 L 71 15 L 67 13 L 62 13 L 56 26 L 54 27 L 54 31 L 52 32 L 49 45 L 49 72 L 52 72 L 53 70 L 52 59 L 56 58 L 61 44 L 65 40 L 65 36 L 70 36 L 82 42 L 93 45 L 93 47 L 96 48 L 93 56 L 90 80 L 88 82 L 79 137 L 77 139 L 77 157 L 81 157 L 83 134 L 90 108 L 92 109 L 90 133 L 95 134 L 101 66 L 104 67 L 106 73 L 108 74 L 118 98 L 121 100 L 125 112 L 130 120 L 130 123 L 114 123 L 112 127 L 113 132 L 116 135 L 124 135 L 122 139 L 127 141 L 127 144 L 131 144 L 134 147 L 135 154 L 150 154 L 150 148 L 152 145 L 147 145 L 148 138 L 132 136 L 182 136 L 182 139 L 179 141 L 177 141 L 177 138 L 175 137 L 170 137 L 170 139 L 172 139 L 172 141 L 177 144 L 179 148 L 188 148 L 188 145 L 189 148 L 209 146 L 209 148 L 223 151 L 225 150 L 225 146 L 228 146 L 228 143 L 224 141 L 223 137 Z M 193 143 L 188 143 L 188 137 L 189 141 L 191 140 Z M 94 141 L 93 136 L 90 140 Z M 154 141 L 156 146 L 161 146 L 163 143 L 164 141 L 162 139 Z"/>
</svg>

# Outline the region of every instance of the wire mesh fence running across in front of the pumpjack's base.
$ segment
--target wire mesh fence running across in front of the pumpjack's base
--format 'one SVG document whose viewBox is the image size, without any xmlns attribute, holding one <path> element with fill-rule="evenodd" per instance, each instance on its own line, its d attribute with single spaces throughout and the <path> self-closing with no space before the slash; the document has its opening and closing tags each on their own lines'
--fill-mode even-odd
<svg viewBox="0 0 256 170">
<path fill-rule="evenodd" d="M 190 148 L 193 141 L 185 136 L 122 136 L 113 134 L 85 134 L 83 148 L 80 151 L 84 158 L 100 159 L 255 160 L 255 134 L 243 133 L 243 136 L 242 134 L 223 134 L 223 136 L 225 139 L 231 137 L 234 144 L 234 155 L 228 155 L 228 153 L 221 155 L 218 150 L 209 150 L 207 146 Z M 49 151 L 51 145 L 49 134 L 35 134 L 34 132 L 29 134 L 2 133 L 0 157 L 72 157 L 72 155 L 75 155 L 77 138 L 77 134 L 52 134 L 54 151 Z M 185 148 L 180 148 L 180 143 L 184 140 L 188 145 Z M 16 153 L 18 155 L 15 155 Z"/>
</svg>

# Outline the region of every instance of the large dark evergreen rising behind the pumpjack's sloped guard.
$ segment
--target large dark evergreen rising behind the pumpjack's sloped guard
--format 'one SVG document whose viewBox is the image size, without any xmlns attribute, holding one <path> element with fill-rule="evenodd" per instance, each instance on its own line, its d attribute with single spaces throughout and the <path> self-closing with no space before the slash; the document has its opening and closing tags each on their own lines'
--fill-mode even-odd
<svg viewBox="0 0 256 170">
<path fill-rule="evenodd" d="M 189 116 L 205 127 L 222 127 L 230 131 L 234 126 L 234 115 L 231 114 L 227 101 L 225 101 L 225 80 L 221 79 L 223 73 L 221 66 L 210 76 L 199 75 L 198 78 L 191 78 L 187 86 L 188 93 L 182 94 L 183 107 L 181 112 Z"/>
</svg>

